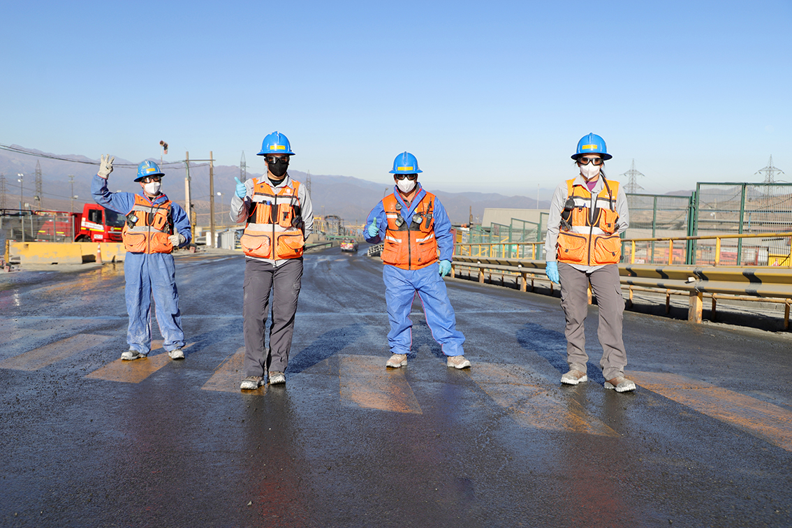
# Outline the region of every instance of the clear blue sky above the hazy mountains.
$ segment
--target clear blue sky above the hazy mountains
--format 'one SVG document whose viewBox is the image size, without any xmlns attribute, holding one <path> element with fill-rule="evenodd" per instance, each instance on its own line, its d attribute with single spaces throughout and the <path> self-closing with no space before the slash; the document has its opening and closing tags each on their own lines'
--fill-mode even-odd
<svg viewBox="0 0 792 528">
<path fill-rule="evenodd" d="M 314 174 L 532 196 L 577 172 L 646 192 L 792 181 L 792 2 L 13 2 L 0 143 L 263 172 L 280 131 Z"/>
</svg>

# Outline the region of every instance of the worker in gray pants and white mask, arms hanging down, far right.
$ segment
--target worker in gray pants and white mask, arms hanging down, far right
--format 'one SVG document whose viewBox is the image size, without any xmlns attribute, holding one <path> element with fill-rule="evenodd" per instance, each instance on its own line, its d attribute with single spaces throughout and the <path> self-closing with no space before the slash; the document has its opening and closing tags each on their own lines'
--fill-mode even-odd
<svg viewBox="0 0 792 528">
<path fill-rule="evenodd" d="M 624 377 L 627 354 L 622 339 L 624 299 L 619 284 L 622 240 L 630 226 L 630 211 L 619 182 L 605 178 L 605 161 L 611 159 L 605 140 L 584 135 L 577 142 L 577 177 L 558 185 L 550 201 L 545 240 L 545 271 L 561 284 L 561 306 L 566 319 L 565 385 L 588 381 L 583 321 L 588 313 L 588 285 L 600 309 L 597 337 L 603 348 L 600 367 L 606 389 L 617 393 L 635 390 Z"/>
</svg>

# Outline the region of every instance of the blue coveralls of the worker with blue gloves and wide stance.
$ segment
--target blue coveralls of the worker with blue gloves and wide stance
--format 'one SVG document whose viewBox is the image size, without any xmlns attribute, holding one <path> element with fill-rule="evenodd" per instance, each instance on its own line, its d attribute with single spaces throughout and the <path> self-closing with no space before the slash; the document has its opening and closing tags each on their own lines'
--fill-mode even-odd
<svg viewBox="0 0 792 528">
<path fill-rule="evenodd" d="M 412 207 L 407 207 L 394 186 L 394 195 L 402 204 L 402 218 L 405 222 L 412 222 L 415 209 L 426 195 L 421 184 L 417 185 L 418 191 L 413 198 Z M 454 253 L 451 220 L 448 219 L 445 208 L 437 197 L 435 197 L 433 215 L 433 229 L 437 247 L 440 249 L 440 260 L 451 260 L 451 255 Z M 374 218 L 377 218 L 379 233 L 375 237 L 368 237 L 367 230 L 364 229 L 364 234 L 366 241 L 371 244 L 379 244 L 385 239 L 385 230 L 388 225 L 382 201 L 368 214 L 366 225 L 371 225 Z M 424 306 L 426 324 L 429 326 L 434 340 L 440 343 L 443 353 L 445 355 L 464 355 L 462 345 L 465 342 L 465 336 L 456 329 L 454 308 L 451 307 L 451 301 L 448 300 L 445 282 L 440 277 L 440 265 L 437 262 L 417 270 L 407 270 L 385 264 L 383 280 L 385 281 L 385 300 L 390 321 L 388 344 L 392 354 L 409 354 L 410 345 L 413 343 L 413 321 L 409 319 L 409 311 L 413 306 L 415 294 L 418 294 L 421 304 Z"/>
</svg>

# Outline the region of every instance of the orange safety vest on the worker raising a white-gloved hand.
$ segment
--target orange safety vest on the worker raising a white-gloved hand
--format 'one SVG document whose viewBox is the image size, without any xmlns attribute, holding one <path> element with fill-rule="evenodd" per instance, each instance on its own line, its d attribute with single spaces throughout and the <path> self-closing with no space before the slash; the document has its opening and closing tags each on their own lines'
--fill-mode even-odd
<svg viewBox="0 0 792 528">
<path fill-rule="evenodd" d="M 127 222 L 121 230 L 124 249 L 130 253 L 171 253 L 173 234 L 170 219 L 170 200 L 150 203 L 143 196 L 135 195 L 135 205 L 127 213 Z"/>
</svg>

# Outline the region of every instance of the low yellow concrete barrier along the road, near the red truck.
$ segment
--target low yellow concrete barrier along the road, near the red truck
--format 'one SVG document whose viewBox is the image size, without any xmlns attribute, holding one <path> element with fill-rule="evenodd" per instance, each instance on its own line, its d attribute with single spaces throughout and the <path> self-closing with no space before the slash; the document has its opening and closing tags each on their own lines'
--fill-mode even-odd
<svg viewBox="0 0 792 528">
<path fill-rule="evenodd" d="M 15 242 L 7 243 L 9 261 L 20 264 L 82 264 L 96 259 L 101 247 L 103 262 L 120 262 L 127 252 L 118 242 Z"/>
</svg>

